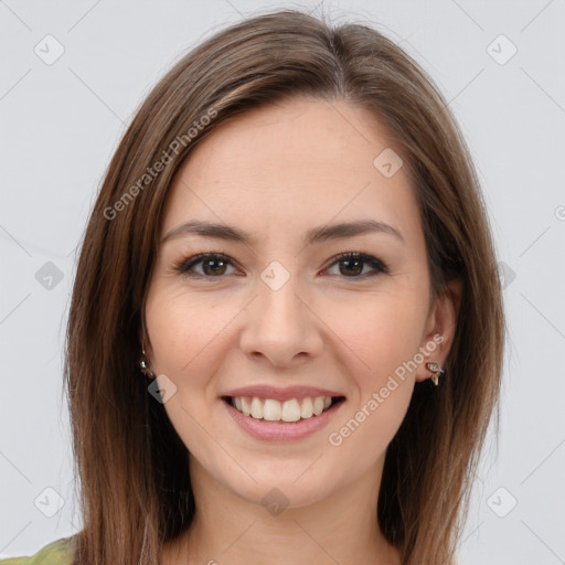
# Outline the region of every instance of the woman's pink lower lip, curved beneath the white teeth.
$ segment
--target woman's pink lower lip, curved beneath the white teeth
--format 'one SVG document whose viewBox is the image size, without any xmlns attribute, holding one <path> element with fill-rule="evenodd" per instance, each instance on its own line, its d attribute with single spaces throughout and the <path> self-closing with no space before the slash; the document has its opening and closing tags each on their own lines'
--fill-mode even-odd
<svg viewBox="0 0 565 565">
<path fill-rule="evenodd" d="M 252 416 L 244 416 L 225 401 L 221 401 L 227 408 L 232 418 L 239 427 L 256 439 L 264 441 L 292 441 L 311 436 L 328 425 L 331 418 L 340 409 L 344 401 L 338 402 L 319 416 L 299 419 L 298 422 L 268 422 Z"/>
</svg>

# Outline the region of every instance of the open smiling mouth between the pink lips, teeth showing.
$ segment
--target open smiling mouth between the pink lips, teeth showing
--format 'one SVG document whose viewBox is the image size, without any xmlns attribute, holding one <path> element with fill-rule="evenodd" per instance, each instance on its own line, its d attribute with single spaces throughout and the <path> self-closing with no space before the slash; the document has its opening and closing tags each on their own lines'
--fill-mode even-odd
<svg viewBox="0 0 565 565">
<path fill-rule="evenodd" d="M 278 401 L 259 396 L 222 396 L 222 401 L 245 417 L 270 423 L 299 424 L 335 409 L 345 397 L 306 396 Z"/>
</svg>

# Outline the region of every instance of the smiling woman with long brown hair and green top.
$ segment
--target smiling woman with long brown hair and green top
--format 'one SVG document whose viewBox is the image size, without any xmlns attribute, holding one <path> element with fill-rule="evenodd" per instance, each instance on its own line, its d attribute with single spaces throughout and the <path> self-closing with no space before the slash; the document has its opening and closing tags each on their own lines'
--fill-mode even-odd
<svg viewBox="0 0 565 565">
<path fill-rule="evenodd" d="M 65 366 L 83 565 L 456 563 L 503 310 L 461 134 L 364 25 L 184 56 L 84 236 Z"/>
</svg>

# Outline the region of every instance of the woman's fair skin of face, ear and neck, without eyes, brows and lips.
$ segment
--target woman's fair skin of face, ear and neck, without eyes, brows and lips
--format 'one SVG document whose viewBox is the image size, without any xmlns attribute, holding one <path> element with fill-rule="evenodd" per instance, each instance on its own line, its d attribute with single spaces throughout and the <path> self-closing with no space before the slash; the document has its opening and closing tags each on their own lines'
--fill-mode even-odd
<svg viewBox="0 0 565 565">
<path fill-rule="evenodd" d="M 294 98 L 222 124 L 179 169 L 161 236 L 199 218 L 234 225 L 256 242 L 171 238 L 148 289 L 145 349 L 152 371 L 177 386 L 164 408 L 190 451 L 196 501 L 192 526 L 163 547 L 164 564 L 401 563 L 376 522 L 384 458 L 415 382 L 430 377 L 425 362 L 447 358 L 460 288 L 430 302 L 407 173 L 401 168 L 386 178 L 373 166 L 387 147 L 373 113 Z M 361 218 L 392 225 L 404 241 L 369 233 L 302 243 L 315 226 Z M 233 259 L 220 274 L 210 262 L 192 268 L 200 278 L 174 269 L 213 252 Z M 363 263 L 362 274 L 350 275 L 333 260 L 343 252 L 376 257 L 388 273 Z M 260 278 L 274 260 L 290 275 L 278 290 Z M 437 334 L 443 343 L 396 379 L 394 392 L 340 446 L 331 445 L 329 434 Z M 347 401 L 322 430 L 266 443 L 243 431 L 220 398 L 259 383 L 322 386 Z M 273 488 L 288 501 L 277 515 L 262 504 Z"/>
</svg>

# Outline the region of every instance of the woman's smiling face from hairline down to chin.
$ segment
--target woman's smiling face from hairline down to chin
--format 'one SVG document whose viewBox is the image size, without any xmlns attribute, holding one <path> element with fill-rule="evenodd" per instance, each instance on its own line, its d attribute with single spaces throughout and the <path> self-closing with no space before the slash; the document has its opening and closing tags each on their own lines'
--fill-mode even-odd
<svg viewBox="0 0 565 565">
<path fill-rule="evenodd" d="M 417 201 L 373 113 L 295 98 L 222 124 L 179 169 L 146 353 L 191 475 L 254 502 L 277 488 L 290 508 L 379 475 L 452 326 L 430 303 Z M 335 227 L 359 222 L 374 228 Z"/>
</svg>

